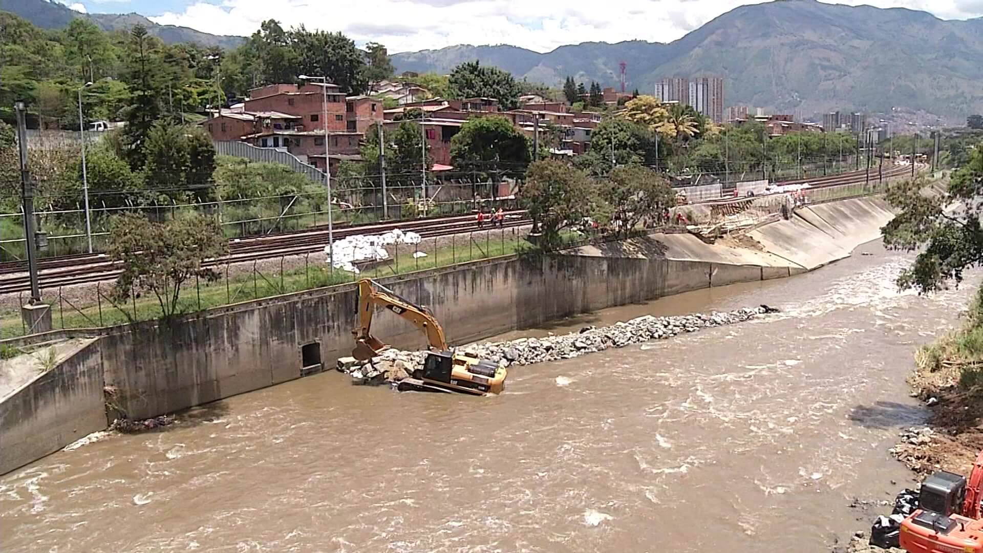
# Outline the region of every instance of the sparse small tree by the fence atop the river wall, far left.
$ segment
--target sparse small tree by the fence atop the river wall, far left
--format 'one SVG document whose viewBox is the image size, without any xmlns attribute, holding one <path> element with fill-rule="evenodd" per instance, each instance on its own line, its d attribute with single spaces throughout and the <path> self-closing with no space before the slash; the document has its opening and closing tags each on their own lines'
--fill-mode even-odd
<svg viewBox="0 0 983 553">
<path fill-rule="evenodd" d="M 179 313 L 181 286 L 190 278 L 215 281 L 219 273 L 204 266 L 207 259 L 228 254 L 228 241 L 218 223 L 194 215 L 151 222 L 142 215 L 117 215 L 110 223 L 109 259 L 118 262 L 114 295 L 153 292 L 164 318 Z"/>
</svg>

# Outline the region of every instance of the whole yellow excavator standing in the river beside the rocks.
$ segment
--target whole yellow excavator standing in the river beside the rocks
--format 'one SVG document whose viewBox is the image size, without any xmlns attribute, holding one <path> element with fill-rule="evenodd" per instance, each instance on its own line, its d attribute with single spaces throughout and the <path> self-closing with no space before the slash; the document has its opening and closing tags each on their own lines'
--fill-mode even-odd
<svg viewBox="0 0 983 553">
<path fill-rule="evenodd" d="M 472 396 L 501 393 L 507 374 L 504 368 L 473 354 L 451 350 L 444 338 L 443 328 L 430 309 L 413 304 L 372 278 L 359 281 L 359 327 L 352 331 L 355 336 L 353 357 L 366 361 L 389 347 L 371 334 L 376 307 L 406 319 L 427 336 L 430 351 L 424 368 L 413 371 L 410 378 L 397 383 L 398 390 Z"/>
</svg>

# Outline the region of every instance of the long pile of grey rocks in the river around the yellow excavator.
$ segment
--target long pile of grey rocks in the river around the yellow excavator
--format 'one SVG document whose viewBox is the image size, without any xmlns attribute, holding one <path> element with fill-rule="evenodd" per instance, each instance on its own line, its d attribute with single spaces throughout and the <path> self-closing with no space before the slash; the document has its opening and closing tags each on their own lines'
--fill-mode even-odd
<svg viewBox="0 0 983 553">
<path fill-rule="evenodd" d="M 459 350 L 482 359 L 489 359 L 501 367 L 529 365 L 570 359 L 586 353 L 604 351 L 609 347 L 624 347 L 652 339 L 692 333 L 709 327 L 741 323 L 769 311 L 770 308 L 761 306 L 726 313 L 678 317 L 645 315 L 609 327 L 585 327 L 579 333 L 547 338 L 518 338 L 510 341 L 473 343 L 462 346 Z M 355 384 L 378 385 L 407 378 L 415 369 L 423 368 L 426 357 L 426 351 L 402 351 L 390 348 L 370 361 L 357 361 L 353 357 L 338 359 L 338 370 L 350 375 Z"/>
</svg>

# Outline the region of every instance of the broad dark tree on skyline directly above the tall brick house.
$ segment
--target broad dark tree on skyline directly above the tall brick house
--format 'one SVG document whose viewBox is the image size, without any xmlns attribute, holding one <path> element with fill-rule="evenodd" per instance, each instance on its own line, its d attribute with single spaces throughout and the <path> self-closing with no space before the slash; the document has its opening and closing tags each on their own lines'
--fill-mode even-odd
<svg viewBox="0 0 983 553">
<path fill-rule="evenodd" d="M 298 71 L 327 76 L 344 92 L 366 91 L 365 57 L 355 42 L 340 32 L 308 31 L 302 25 L 289 32 L 290 45 L 299 58 Z"/>
</svg>

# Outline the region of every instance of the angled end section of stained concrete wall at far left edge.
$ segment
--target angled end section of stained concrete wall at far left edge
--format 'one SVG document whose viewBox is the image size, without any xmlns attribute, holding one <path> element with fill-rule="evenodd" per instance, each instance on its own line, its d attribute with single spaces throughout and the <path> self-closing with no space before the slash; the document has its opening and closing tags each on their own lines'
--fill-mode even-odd
<svg viewBox="0 0 983 553">
<path fill-rule="evenodd" d="M 0 473 L 106 427 L 97 340 L 0 403 Z"/>
</svg>

